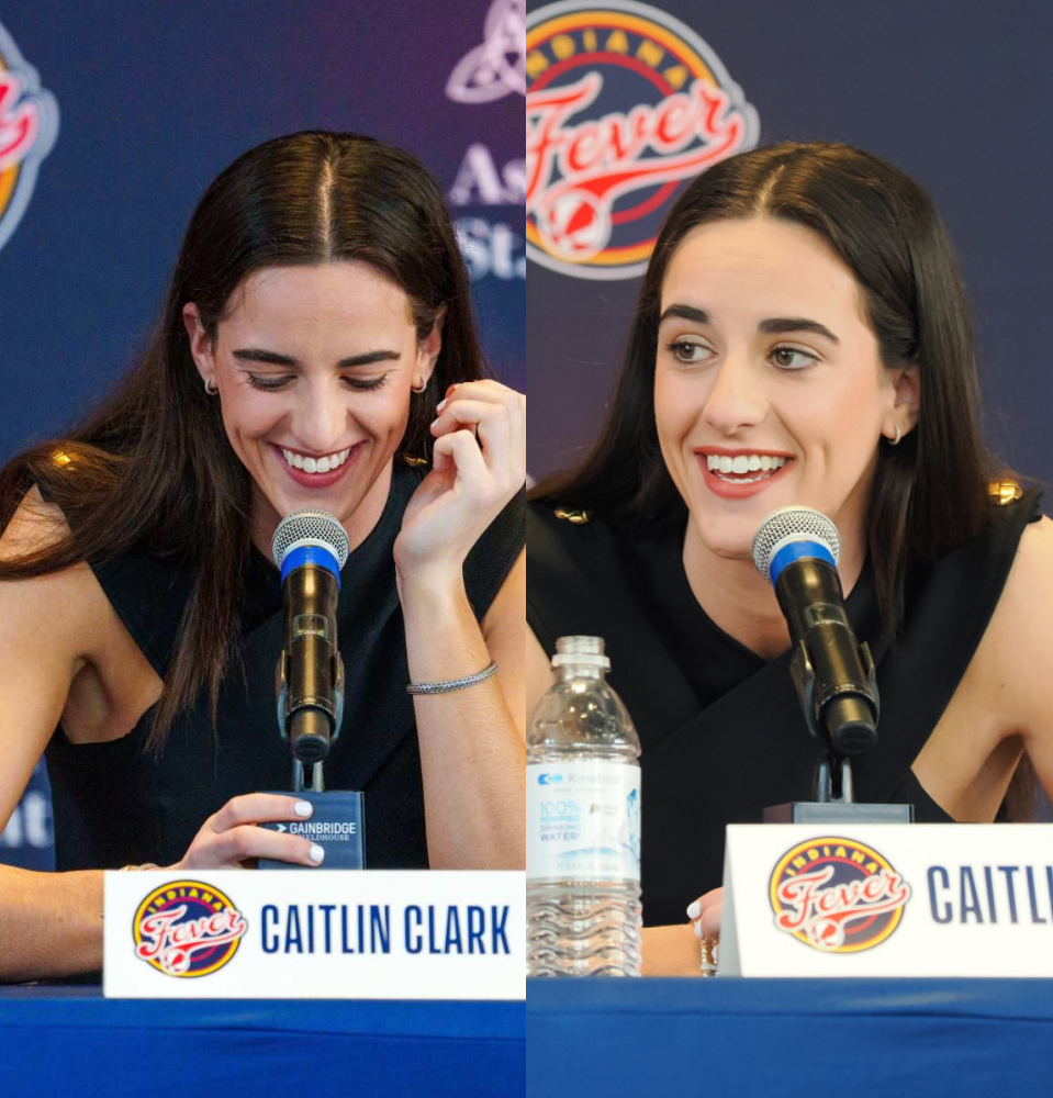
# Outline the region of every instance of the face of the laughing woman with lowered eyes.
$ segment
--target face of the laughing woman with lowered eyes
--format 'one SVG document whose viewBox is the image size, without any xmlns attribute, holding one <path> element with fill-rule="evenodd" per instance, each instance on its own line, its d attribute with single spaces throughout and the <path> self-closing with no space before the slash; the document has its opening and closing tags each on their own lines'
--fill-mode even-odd
<svg viewBox="0 0 1053 1098">
<path fill-rule="evenodd" d="M 437 328 L 418 343 L 405 293 L 358 261 L 256 271 L 232 294 L 214 343 L 195 306 L 184 320 L 253 478 L 257 544 L 304 507 L 329 512 L 352 545 L 361 540 L 388 496 L 411 385 L 435 366 Z"/>
</svg>

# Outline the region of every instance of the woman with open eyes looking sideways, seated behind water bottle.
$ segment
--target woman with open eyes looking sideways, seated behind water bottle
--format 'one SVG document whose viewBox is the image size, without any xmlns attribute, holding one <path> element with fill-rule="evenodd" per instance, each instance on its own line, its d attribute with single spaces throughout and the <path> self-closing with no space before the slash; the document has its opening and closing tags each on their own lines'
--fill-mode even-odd
<svg viewBox="0 0 1053 1098">
<path fill-rule="evenodd" d="M 837 524 L 877 663 L 856 798 L 993 820 L 1015 772 L 1053 788 L 1053 524 L 1011 482 L 988 494 L 977 394 L 953 250 L 898 169 L 777 145 L 710 168 L 671 212 L 601 438 L 538 488 L 527 534 L 528 704 L 554 638 L 597 634 L 640 731 L 646 971 L 698 971 L 725 825 L 810 799 L 818 744 L 750 552 L 776 507 Z"/>
</svg>

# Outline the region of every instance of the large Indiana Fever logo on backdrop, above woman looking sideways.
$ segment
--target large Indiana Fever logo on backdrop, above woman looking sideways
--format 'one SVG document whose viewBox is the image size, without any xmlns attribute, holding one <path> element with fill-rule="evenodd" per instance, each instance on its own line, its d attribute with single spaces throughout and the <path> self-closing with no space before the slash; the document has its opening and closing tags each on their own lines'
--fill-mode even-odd
<svg viewBox="0 0 1053 1098">
<path fill-rule="evenodd" d="M 690 27 L 632 0 L 527 16 L 527 255 L 642 273 L 684 181 L 757 144 L 757 112 Z"/>
</svg>

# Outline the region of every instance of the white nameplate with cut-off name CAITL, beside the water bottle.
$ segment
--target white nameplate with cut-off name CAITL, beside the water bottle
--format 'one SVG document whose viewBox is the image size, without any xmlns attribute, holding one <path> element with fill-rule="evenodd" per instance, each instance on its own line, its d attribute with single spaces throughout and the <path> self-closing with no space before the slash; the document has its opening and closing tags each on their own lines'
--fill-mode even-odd
<svg viewBox="0 0 1053 1098">
<path fill-rule="evenodd" d="M 1053 827 L 731 825 L 720 975 L 1053 976 Z"/>
</svg>

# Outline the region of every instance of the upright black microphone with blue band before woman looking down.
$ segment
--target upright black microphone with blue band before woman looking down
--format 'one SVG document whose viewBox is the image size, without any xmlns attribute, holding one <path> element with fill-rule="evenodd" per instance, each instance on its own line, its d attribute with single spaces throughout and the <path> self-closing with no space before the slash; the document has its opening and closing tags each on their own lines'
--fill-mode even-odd
<svg viewBox="0 0 1053 1098">
<path fill-rule="evenodd" d="M 298 511 L 278 524 L 271 548 L 281 569 L 285 619 L 275 671 L 278 726 L 293 758 L 313 765 L 328 755 L 344 718 L 336 606 L 347 534 L 324 511 Z"/>
</svg>

